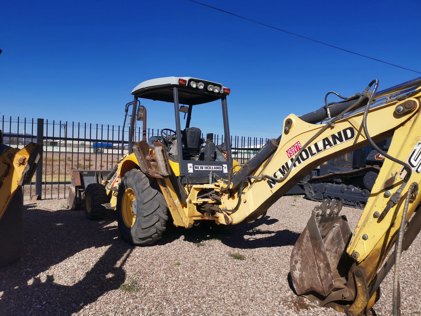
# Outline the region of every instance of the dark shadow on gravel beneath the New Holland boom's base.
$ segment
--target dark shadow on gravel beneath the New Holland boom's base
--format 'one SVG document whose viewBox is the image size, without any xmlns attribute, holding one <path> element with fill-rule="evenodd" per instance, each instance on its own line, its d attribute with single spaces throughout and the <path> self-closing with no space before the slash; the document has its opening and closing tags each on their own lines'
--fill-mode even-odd
<svg viewBox="0 0 421 316">
<path fill-rule="evenodd" d="M 260 222 L 242 223 L 232 226 L 230 230 L 221 232 L 206 229 L 202 225 L 189 230 L 177 228 L 171 225 L 163 234 L 159 244 L 167 244 L 184 236 L 185 241 L 197 243 L 212 238 L 218 238 L 226 246 L 240 249 L 255 249 L 261 247 L 292 246 L 296 243 L 300 233 L 290 230 L 262 230 L 258 226 L 262 224 L 272 225 L 277 219 L 266 216 Z M 270 236 L 267 236 L 270 235 Z"/>
</svg>

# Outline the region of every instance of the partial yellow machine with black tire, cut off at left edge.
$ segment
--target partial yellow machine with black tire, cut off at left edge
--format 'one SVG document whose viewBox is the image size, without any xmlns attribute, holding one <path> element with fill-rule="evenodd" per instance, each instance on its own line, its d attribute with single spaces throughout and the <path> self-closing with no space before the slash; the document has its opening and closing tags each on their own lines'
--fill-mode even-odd
<svg viewBox="0 0 421 316">
<path fill-rule="evenodd" d="M 0 131 L 0 266 L 19 259 L 23 245 L 22 185 L 31 181 L 43 152 L 29 143 L 22 149 L 3 143 Z"/>
</svg>

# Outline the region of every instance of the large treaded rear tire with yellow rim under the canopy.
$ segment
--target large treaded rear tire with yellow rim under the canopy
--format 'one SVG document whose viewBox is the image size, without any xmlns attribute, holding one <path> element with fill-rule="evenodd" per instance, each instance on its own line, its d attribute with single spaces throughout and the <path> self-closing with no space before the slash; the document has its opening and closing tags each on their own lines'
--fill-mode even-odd
<svg viewBox="0 0 421 316">
<path fill-rule="evenodd" d="M 151 245 L 161 239 L 168 220 L 168 206 L 156 182 L 142 171 L 125 174 L 117 194 L 120 234 L 132 245 Z"/>
</svg>

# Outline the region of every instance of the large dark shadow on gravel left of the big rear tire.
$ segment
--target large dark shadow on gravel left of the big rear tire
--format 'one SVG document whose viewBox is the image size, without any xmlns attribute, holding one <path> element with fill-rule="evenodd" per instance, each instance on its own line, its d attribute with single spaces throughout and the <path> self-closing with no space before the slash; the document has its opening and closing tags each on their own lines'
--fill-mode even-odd
<svg viewBox="0 0 421 316">
<path fill-rule="evenodd" d="M 124 283 L 122 266 L 133 247 L 122 239 L 114 222 L 115 215 L 100 222 L 88 221 L 84 211 L 61 209 L 52 212 L 25 206 L 24 252 L 10 267 L 0 268 L 1 315 L 70 315 L 94 302 L 105 292 Z M 52 216 L 53 215 L 53 216 Z M 117 238 L 116 238 L 117 237 Z M 73 286 L 55 283 L 53 276 L 35 278 L 60 263 L 64 274 L 72 275 L 73 266 L 65 260 L 91 247 L 109 246 L 91 267 L 89 257 L 77 264 L 86 265 L 85 277 Z M 35 278 L 31 285 L 27 281 Z"/>
</svg>

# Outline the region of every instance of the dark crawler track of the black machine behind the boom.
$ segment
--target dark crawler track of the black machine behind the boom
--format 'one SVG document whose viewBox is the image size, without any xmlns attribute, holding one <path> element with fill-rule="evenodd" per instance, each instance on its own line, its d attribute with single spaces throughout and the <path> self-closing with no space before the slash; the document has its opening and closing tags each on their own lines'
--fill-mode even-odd
<svg viewBox="0 0 421 316">
<path fill-rule="evenodd" d="M 312 177 L 304 185 L 304 191 L 313 201 L 336 199 L 343 200 L 346 206 L 364 208 L 379 170 L 379 167 L 367 166 Z"/>
</svg>

